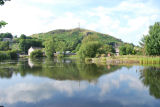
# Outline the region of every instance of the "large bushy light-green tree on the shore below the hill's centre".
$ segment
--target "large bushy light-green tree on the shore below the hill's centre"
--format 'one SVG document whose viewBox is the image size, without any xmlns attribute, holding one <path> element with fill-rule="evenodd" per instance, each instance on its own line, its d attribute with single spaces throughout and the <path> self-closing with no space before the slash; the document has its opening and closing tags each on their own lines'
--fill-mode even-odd
<svg viewBox="0 0 160 107">
<path fill-rule="evenodd" d="M 93 58 L 112 52 L 114 49 L 111 45 L 101 44 L 97 35 L 89 35 L 83 39 L 78 55 L 82 58 Z"/>
</svg>

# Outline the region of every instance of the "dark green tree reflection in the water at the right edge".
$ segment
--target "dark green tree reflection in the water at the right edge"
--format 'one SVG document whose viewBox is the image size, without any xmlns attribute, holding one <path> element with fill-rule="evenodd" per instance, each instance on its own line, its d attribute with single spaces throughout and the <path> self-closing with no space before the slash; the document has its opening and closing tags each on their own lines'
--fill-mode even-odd
<svg viewBox="0 0 160 107">
<path fill-rule="evenodd" d="M 160 98 L 160 68 L 147 67 L 141 72 L 141 80 L 149 86 L 150 95 Z"/>
</svg>

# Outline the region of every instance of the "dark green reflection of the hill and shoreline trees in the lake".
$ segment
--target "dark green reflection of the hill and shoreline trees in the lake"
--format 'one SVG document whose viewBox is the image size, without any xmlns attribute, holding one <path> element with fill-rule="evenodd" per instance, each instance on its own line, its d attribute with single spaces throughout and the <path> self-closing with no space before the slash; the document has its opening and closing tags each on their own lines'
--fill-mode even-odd
<svg viewBox="0 0 160 107">
<path fill-rule="evenodd" d="M 29 64 L 32 63 L 32 67 Z M 95 64 L 78 63 L 73 60 L 19 60 L 12 72 L 21 76 L 32 74 L 34 76 L 48 77 L 57 80 L 96 80 L 103 74 L 113 72 L 120 66 L 97 66 Z M 12 64 L 7 66 L 13 66 Z M 8 69 L 8 73 L 9 73 Z M 5 72 L 6 73 L 6 72 Z M 1 73 L 0 73 L 1 75 Z M 12 74 L 10 74 L 12 75 Z"/>
</svg>

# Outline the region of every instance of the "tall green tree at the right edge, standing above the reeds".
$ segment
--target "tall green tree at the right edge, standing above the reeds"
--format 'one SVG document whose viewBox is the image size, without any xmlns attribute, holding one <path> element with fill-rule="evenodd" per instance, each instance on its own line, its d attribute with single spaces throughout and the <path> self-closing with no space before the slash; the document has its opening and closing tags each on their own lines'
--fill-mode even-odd
<svg viewBox="0 0 160 107">
<path fill-rule="evenodd" d="M 160 22 L 149 28 L 149 34 L 143 37 L 146 55 L 160 55 Z"/>
</svg>

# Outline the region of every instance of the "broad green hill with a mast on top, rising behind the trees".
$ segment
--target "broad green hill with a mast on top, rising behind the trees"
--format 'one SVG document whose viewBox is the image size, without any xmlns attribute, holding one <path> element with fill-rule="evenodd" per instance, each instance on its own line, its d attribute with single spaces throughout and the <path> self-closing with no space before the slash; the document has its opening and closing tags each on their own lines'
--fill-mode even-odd
<svg viewBox="0 0 160 107">
<path fill-rule="evenodd" d="M 76 50 L 77 46 L 81 45 L 83 38 L 88 35 L 97 35 L 99 37 L 99 40 L 103 44 L 114 45 L 115 43 L 117 44 L 123 43 L 120 39 L 117 39 L 108 34 L 102 34 L 95 31 L 87 29 L 79 29 L 79 28 L 70 30 L 64 30 L 64 29 L 53 30 L 47 33 L 33 34 L 31 35 L 31 37 L 41 39 L 43 41 L 46 41 L 49 38 L 54 37 L 57 40 L 65 41 L 67 43 L 68 50 L 73 51 Z"/>
</svg>

